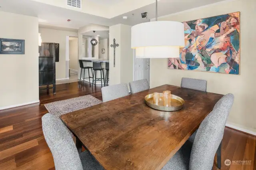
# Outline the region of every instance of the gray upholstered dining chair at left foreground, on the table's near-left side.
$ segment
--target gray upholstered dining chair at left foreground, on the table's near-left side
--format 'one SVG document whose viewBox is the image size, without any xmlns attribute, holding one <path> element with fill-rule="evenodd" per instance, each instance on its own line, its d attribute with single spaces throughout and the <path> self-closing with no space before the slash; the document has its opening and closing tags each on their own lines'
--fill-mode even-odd
<svg viewBox="0 0 256 170">
<path fill-rule="evenodd" d="M 68 128 L 60 119 L 47 113 L 42 117 L 42 128 L 56 170 L 104 170 L 87 151 L 78 154 Z"/>
</svg>

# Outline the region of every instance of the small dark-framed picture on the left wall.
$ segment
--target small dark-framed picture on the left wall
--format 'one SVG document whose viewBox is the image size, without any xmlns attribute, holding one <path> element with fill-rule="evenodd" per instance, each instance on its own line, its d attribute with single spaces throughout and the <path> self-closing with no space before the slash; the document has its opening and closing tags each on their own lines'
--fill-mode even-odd
<svg viewBox="0 0 256 170">
<path fill-rule="evenodd" d="M 0 38 L 0 54 L 25 54 L 25 40 Z"/>
</svg>

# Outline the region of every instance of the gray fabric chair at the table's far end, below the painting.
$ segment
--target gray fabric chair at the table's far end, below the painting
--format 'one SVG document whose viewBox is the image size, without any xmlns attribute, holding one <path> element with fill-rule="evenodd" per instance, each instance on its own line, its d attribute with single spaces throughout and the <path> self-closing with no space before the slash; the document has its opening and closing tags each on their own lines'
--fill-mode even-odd
<svg viewBox="0 0 256 170">
<path fill-rule="evenodd" d="M 181 87 L 188 88 L 188 89 L 194 89 L 194 90 L 200 90 L 200 91 L 206 91 L 207 81 L 182 77 Z"/>
</svg>

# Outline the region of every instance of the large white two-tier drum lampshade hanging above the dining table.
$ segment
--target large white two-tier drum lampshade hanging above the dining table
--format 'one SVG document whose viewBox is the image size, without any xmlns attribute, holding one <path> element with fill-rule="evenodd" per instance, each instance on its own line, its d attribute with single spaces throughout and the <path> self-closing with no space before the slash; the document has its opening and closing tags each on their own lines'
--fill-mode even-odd
<svg viewBox="0 0 256 170">
<path fill-rule="evenodd" d="M 184 25 L 174 21 L 145 22 L 132 27 L 137 58 L 177 58 L 184 47 Z"/>
</svg>

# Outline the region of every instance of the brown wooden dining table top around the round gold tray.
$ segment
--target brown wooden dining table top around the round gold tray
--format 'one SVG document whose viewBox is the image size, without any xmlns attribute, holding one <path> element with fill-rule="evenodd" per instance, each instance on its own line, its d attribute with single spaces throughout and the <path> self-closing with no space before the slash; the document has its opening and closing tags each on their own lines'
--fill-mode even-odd
<svg viewBox="0 0 256 170">
<path fill-rule="evenodd" d="M 148 94 L 170 90 L 181 110 L 158 111 Z M 60 116 L 106 170 L 160 170 L 181 148 L 223 95 L 162 85 Z"/>
</svg>

